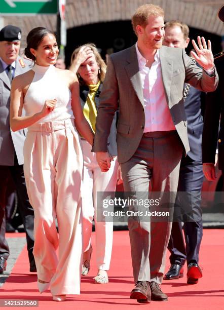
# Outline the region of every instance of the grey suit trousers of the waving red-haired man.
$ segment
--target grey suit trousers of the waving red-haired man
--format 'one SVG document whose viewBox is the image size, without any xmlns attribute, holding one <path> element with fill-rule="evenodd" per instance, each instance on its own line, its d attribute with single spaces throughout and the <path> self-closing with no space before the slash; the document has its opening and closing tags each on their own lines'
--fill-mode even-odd
<svg viewBox="0 0 224 310">
<path fill-rule="evenodd" d="M 147 199 L 157 192 L 160 206 L 168 202 L 170 211 L 170 216 L 163 216 L 161 220 L 154 220 L 152 216 L 128 219 L 135 283 L 162 282 L 182 153 L 183 145 L 176 131 L 144 133 L 132 158 L 121 164 L 126 195 Z M 129 209 L 145 213 L 146 208 L 129 206 Z"/>
</svg>

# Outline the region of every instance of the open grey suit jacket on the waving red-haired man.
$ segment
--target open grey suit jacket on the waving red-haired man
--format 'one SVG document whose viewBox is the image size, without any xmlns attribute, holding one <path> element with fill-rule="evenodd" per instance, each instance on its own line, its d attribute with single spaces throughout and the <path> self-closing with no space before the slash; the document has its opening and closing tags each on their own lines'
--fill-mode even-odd
<svg viewBox="0 0 224 310">
<path fill-rule="evenodd" d="M 159 50 L 162 79 L 167 104 L 185 152 L 190 150 L 183 105 L 184 82 L 211 92 L 217 87 L 215 70 L 210 77 L 193 63 L 183 49 L 163 46 Z M 135 45 L 109 57 L 100 94 L 96 118 L 96 135 L 92 151 L 106 151 L 106 141 L 114 113 L 119 109 L 117 126 L 118 161 L 124 163 L 135 153 L 144 131 L 143 92 Z"/>
</svg>

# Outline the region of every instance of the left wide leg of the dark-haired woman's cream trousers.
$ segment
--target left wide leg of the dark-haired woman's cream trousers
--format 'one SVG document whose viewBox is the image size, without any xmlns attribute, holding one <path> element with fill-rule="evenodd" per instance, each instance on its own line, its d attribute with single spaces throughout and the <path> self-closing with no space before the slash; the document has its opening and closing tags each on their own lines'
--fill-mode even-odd
<svg viewBox="0 0 224 310">
<path fill-rule="evenodd" d="M 45 282 L 51 281 L 58 263 L 53 153 L 53 133 L 28 131 L 24 143 L 24 175 L 34 209 L 33 255 L 38 278 Z"/>
</svg>

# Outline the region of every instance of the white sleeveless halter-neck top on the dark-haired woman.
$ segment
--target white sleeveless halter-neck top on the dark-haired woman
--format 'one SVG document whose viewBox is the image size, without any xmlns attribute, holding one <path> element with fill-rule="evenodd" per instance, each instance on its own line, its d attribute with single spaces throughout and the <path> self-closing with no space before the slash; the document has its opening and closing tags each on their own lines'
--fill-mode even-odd
<svg viewBox="0 0 224 310">
<path fill-rule="evenodd" d="M 24 97 L 23 107 L 26 115 L 41 112 L 46 100 L 56 99 L 55 108 L 39 123 L 57 122 L 74 118 L 71 109 L 71 92 L 53 66 L 34 65 L 33 80 Z"/>
</svg>

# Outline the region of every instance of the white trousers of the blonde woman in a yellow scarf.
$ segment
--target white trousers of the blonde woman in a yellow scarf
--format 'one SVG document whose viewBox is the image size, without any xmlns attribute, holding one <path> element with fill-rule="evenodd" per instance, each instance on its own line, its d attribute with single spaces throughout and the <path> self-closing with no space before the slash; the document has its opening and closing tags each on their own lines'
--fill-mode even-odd
<svg viewBox="0 0 224 310">
<path fill-rule="evenodd" d="M 113 244 L 113 222 L 96 221 L 97 191 L 115 191 L 117 183 L 117 157 L 111 161 L 107 172 L 101 172 L 96 154 L 91 152 L 91 145 L 81 140 L 83 146 L 84 175 L 83 175 L 83 248 L 90 248 L 92 220 L 94 217 L 96 229 L 96 264 L 101 270 L 108 270 Z"/>
</svg>

